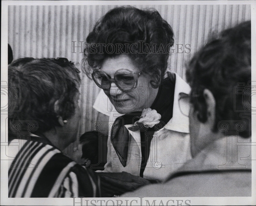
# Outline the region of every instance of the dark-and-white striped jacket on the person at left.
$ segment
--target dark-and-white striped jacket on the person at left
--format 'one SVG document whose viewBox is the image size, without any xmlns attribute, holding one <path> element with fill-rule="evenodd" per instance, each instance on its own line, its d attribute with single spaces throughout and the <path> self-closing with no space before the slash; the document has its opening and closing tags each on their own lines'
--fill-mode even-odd
<svg viewBox="0 0 256 206">
<path fill-rule="evenodd" d="M 26 140 L 27 139 L 27 140 Z M 8 197 L 100 197 L 99 179 L 39 136 L 8 145 Z"/>
</svg>

